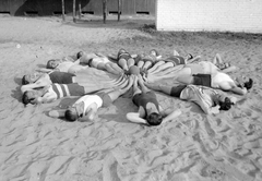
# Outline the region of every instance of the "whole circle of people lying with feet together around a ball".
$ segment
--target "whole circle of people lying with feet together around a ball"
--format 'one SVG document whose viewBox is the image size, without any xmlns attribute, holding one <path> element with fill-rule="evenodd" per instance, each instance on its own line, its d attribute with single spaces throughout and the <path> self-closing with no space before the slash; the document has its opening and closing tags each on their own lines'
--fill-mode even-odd
<svg viewBox="0 0 262 181">
<path fill-rule="evenodd" d="M 80 96 L 72 106 L 51 110 L 48 116 L 68 121 L 92 121 L 100 107 L 110 106 L 132 88 L 132 101 L 139 110 L 127 113 L 127 119 L 134 123 L 159 125 L 181 114 L 181 110 L 163 109 L 155 92 L 192 101 L 207 114 L 219 113 L 238 101 L 237 97 L 225 92 L 245 95 L 253 85 L 253 80 L 246 76 L 233 80 L 227 73 L 235 70 L 237 68 L 224 62 L 218 53 L 214 60 L 203 61 L 200 56 L 189 53 L 182 57 L 176 50 L 166 58 L 155 49 L 141 55 L 120 49 L 117 55 L 108 56 L 80 51 L 74 59 L 52 59 L 45 69 L 24 75 L 22 101 L 37 105 Z M 92 71 L 114 76 L 94 79 Z M 169 84 L 163 84 L 163 80 Z"/>
</svg>

